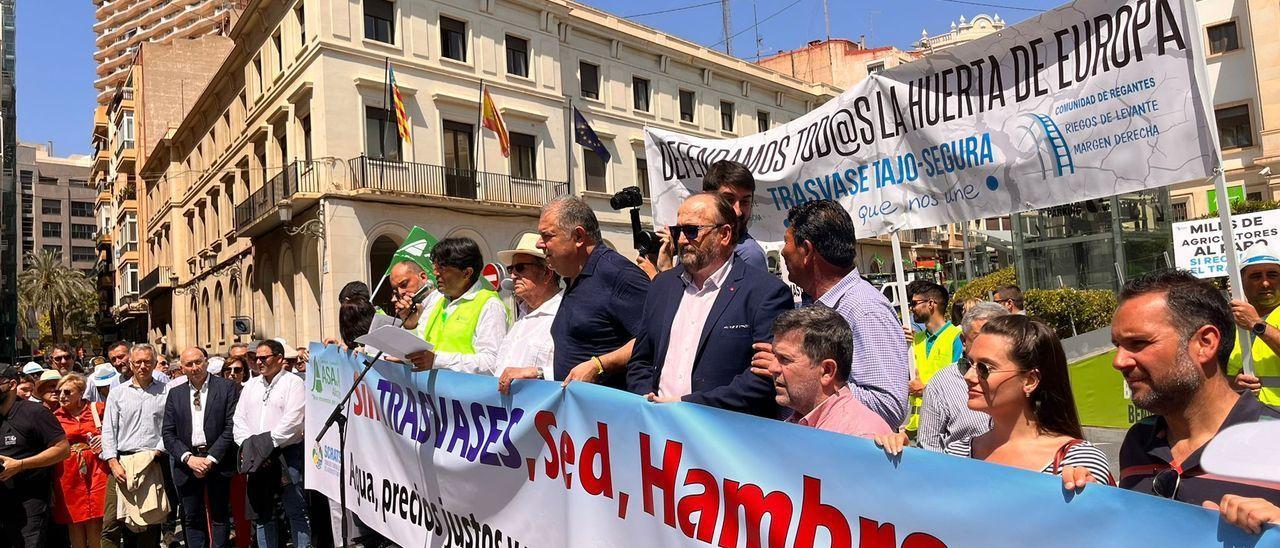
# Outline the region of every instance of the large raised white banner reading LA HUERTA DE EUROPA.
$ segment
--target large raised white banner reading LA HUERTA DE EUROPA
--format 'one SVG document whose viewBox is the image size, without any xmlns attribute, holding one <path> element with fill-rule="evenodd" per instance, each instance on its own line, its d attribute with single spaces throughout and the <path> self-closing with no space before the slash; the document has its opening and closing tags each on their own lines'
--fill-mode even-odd
<svg viewBox="0 0 1280 548">
<path fill-rule="evenodd" d="M 838 200 L 859 237 L 1207 178 L 1216 163 L 1190 0 L 1079 0 L 873 74 L 764 133 L 646 131 L 654 224 L 707 166 L 756 179 L 753 236 Z"/>
</svg>

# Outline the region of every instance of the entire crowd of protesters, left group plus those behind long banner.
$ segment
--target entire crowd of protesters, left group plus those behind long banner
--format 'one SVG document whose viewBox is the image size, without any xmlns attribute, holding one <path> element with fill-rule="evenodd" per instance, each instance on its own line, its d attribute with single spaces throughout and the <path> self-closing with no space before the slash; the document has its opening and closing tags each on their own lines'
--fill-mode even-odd
<svg viewBox="0 0 1280 548">
<path fill-rule="evenodd" d="M 1065 490 L 1096 483 L 1203 504 L 1252 533 L 1280 522 L 1280 485 L 1199 466 L 1221 429 L 1280 419 L 1267 405 L 1280 375 L 1276 254 L 1245 257 L 1244 301 L 1178 270 L 1124 286 L 1114 366 L 1151 416 L 1114 469 L 1084 439 L 1061 341 L 1018 287 L 951 302 L 946 287 L 913 282 L 904 328 L 855 266 L 849 213 L 818 200 L 787 215 L 781 256 L 797 307 L 749 234 L 750 170 L 719 161 L 703 189 L 659 230 L 658 254 L 636 261 L 604 243 L 586 202 L 553 200 L 536 234 L 498 254 L 515 310 L 481 278 L 468 238 L 440 241 L 430 269 L 393 264 L 389 312 L 434 348 L 406 366 L 492 375 L 502 393 L 532 379 L 595 383 L 869 438 L 890 455 L 911 446 L 1051 474 Z M 326 343 L 356 348 L 381 312 L 360 282 L 339 301 L 340 337 Z M 1251 333 L 1254 374 L 1240 367 L 1236 328 Z M 312 544 L 305 350 L 269 339 L 225 357 L 187 348 L 173 366 L 160 357 L 115 343 L 77 366 L 58 346 L 47 369 L 0 370 L 0 435 L 15 440 L 0 446 L 0 545 L 157 545 L 174 516 L 186 545 Z"/>
</svg>

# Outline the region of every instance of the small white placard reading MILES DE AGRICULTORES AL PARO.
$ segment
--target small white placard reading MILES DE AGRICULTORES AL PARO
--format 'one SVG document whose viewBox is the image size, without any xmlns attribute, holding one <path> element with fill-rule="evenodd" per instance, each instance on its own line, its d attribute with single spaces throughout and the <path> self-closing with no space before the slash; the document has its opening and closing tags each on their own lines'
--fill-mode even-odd
<svg viewBox="0 0 1280 548">
<path fill-rule="evenodd" d="M 1280 245 L 1280 210 L 1231 215 L 1235 250 Z M 1228 275 L 1221 222 L 1217 218 L 1174 223 L 1174 262 L 1197 278 Z"/>
</svg>

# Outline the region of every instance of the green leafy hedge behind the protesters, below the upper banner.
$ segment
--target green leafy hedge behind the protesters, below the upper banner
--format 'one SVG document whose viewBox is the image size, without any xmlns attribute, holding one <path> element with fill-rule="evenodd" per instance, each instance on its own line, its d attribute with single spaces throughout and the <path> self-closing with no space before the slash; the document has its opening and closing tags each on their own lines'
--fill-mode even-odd
<svg viewBox="0 0 1280 548">
<path fill-rule="evenodd" d="M 954 300 L 989 298 L 991 292 L 1000 286 L 1018 282 L 1012 266 L 996 270 L 977 278 L 955 292 Z M 1107 289 L 1025 289 L 1027 314 L 1050 324 L 1059 337 L 1071 337 L 1071 321 L 1075 332 L 1085 333 L 1111 324 L 1116 311 L 1116 294 Z"/>
</svg>

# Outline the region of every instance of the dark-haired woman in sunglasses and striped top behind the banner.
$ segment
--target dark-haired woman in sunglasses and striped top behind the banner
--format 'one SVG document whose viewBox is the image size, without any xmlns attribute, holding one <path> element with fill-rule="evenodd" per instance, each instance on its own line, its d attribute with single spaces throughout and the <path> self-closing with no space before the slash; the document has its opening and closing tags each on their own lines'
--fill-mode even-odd
<svg viewBox="0 0 1280 548">
<path fill-rule="evenodd" d="M 1115 485 L 1106 453 L 1083 439 L 1066 355 L 1048 325 L 1023 315 L 993 318 L 957 365 L 969 385 L 969 408 L 991 415 L 992 428 L 952 442 L 947 453 L 1060 475 L 1068 489 Z M 900 435 L 877 443 L 896 455 Z"/>
</svg>

